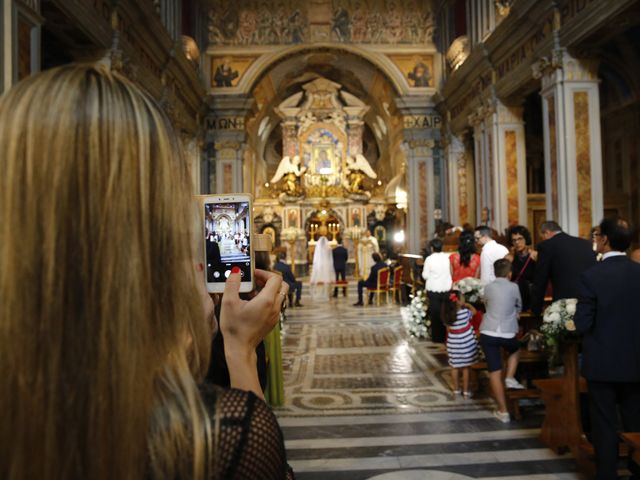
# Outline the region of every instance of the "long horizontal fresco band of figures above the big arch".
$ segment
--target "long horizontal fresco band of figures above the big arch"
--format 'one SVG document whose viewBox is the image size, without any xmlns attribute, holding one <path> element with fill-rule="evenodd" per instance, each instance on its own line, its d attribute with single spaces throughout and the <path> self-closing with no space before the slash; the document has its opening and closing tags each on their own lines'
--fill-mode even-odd
<svg viewBox="0 0 640 480">
<path fill-rule="evenodd" d="M 327 11 L 326 20 L 319 11 Z M 218 0 L 208 28 L 210 44 L 238 46 L 309 42 L 312 28 L 340 43 L 424 45 L 433 27 L 428 2 L 420 0 Z"/>
</svg>

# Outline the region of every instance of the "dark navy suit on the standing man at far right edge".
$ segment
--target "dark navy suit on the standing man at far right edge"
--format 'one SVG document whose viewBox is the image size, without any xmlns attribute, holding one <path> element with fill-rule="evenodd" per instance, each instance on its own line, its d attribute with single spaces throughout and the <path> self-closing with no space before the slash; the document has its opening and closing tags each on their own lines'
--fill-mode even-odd
<svg viewBox="0 0 640 480">
<path fill-rule="evenodd" d="M 640 264 L 626 256 L 607 258 L 580 276 L 575 323 L 584 334 L 582 375 L 600 480 L 617 478 L 618 406 L 623 430 L 640 431 L 639 299 Z"/>
</svg>

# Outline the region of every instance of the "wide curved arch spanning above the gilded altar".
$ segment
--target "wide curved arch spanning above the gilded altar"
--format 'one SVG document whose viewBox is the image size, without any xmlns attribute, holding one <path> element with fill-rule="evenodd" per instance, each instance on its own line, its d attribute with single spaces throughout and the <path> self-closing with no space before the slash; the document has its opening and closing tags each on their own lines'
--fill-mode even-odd
<svg viewBox="0 0 640 480">
<path fill-rule="evenodd" d="M 248 95 L 253 91 L 264 75 L 281 62 L 295 55 L 322 51 L 337 53 L 346 52 L 357 55 L 370 63 L 376 70 L 380 71 L 393 86 L 395 92 L 399 96 L 407 95 L 409 93 L 409 83 L 407 82 L 407 79 L 404 78 L 400 69 L 391 61 L 391 59 L 383 53 L 373 52 L 356 45 L 316 43 L 313 45 L 293 45 L 287 48 L 264 53 L 249 66 L 236 87 L 227 88 L 219 93 L 216 92 L 216 95 Z"/>
</svg>

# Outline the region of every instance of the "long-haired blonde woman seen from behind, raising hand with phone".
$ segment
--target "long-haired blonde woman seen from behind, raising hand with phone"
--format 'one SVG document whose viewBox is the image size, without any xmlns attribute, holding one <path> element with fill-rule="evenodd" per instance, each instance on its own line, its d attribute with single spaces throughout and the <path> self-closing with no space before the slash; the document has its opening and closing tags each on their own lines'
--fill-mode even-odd
<svg viewBox="0 0 640 480">
<path fill-rule="evenodd" d="M 189 172 L 155 103 L 105 67 L 0 99 L 0 478 L 284 479 L 255 346 L 287 287 L 220 318 L 229 391 L 200 391 L 212 305 Z"/>
</svg>

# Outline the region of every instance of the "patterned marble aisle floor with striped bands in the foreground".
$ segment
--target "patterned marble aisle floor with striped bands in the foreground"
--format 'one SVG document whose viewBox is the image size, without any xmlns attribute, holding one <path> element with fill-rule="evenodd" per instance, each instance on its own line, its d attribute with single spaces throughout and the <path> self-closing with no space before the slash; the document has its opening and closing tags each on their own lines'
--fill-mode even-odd
<svg viewBox="0 0 640 480">
<path fill-rule="evenodd" d="M 297 479 L 580 478 L 538 441 L 540 407 L 503 424 L 485 382 L 472 400 L 452 398 L 444 348 L 408 337 L 399 307 L 355 300 L 303 295 L 287 311 L 276 413 Z"/>
</svg>

